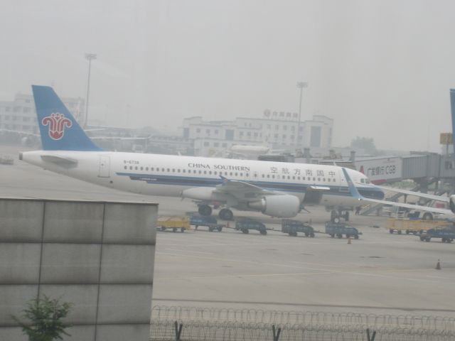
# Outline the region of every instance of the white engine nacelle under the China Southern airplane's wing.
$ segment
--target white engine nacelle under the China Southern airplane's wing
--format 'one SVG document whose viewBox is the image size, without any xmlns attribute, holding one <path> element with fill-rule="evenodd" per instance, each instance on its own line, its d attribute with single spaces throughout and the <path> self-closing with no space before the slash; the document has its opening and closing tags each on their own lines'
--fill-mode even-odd
<svg viewBox="0 0 455 341">
<path fill-rule="evenodd" d="M 249 202 L 248 207 L 264 215 L 278 218 L 291 218 L 299 213 L 300 200 L 294 195 L 266 195 L 261 200 Z"/>
</svg>

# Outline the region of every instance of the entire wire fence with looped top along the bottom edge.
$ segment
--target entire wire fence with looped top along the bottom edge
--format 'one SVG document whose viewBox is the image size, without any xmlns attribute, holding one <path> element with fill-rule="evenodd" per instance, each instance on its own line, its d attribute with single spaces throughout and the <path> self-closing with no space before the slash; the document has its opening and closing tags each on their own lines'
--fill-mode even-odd
<svg viewBox="0 0 455 341">
<path fill-rule="evenodd" d="M 253 309 L 155 306 L 153 341 L 455 340 L 455 319 Z"/>
</svg>

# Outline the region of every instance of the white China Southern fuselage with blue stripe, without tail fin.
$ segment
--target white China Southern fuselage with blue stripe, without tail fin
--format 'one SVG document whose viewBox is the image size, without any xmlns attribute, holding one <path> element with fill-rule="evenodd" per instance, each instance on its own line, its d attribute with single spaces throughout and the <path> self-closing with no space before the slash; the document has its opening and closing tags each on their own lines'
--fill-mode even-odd
<svg viewBox="0 0 455 341">
<path fill-rule="evenodd" d="M 227 178 L 295 195 L 301 201 L 306 188 L 321 188 L 320 205 L 358 205 L 338 166 L 106 151 L 29 151 L 21 153 L 21 159 L 72 178 L 146 195 L 181 197 L 183 190 L 215 188 Z M 349 174 L 357 183 L 365 178 L 357 171 Z M 365 196 L 383 196 L 366 183 L 358 190 Z"/>
</svg>

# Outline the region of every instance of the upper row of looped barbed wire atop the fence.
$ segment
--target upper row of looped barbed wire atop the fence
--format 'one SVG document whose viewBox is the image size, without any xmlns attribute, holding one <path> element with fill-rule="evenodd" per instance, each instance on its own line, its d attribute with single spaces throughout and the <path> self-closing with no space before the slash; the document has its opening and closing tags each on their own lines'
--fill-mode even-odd
<svg viewBox="0 0 455 341">
<path fill-rule="evenodd" d="M 268 323 L 276 325 L 365 325 L 366 328 L 387 326 L 387 328 L 448 330 L 455 332 L 455 318 L 432 315 L 378 315 L 351 312 L 331 313 L 156 305 L 152 308 L 151 319 Z"/>
</svg>

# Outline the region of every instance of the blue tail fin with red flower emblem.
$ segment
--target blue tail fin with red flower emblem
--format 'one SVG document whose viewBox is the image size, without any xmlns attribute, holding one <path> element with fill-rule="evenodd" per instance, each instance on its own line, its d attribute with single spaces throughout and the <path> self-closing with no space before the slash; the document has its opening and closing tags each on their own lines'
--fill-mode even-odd
<svg viewBox="0 0 455 341">
<path fill-rule="evenodd" d="M 101 151 L 85 134 L 52 87 L 32 85 L 41 143 L 46 151 Z"/>
</svg>

